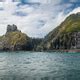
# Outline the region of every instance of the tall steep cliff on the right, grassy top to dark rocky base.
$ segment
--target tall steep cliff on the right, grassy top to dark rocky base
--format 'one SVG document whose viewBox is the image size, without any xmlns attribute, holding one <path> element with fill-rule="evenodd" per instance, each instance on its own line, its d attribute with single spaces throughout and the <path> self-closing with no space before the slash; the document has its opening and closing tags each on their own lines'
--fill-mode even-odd
<svg viewBox="0 0 80 80">
<path fill-rule="evenodd" d="M 45 36 L 37 50 L 79 49 L 80 13 L 72 14 Z"/>
</svg>

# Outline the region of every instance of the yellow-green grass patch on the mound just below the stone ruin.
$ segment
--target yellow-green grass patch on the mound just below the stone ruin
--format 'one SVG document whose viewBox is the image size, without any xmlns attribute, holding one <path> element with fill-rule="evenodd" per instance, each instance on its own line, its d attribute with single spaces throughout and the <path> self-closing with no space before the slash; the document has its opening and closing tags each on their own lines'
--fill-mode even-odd
<svg viewBox="0 0 80 80">
<path fill-rule="evenodd" d="M 16 44 L 26 44 L 26 41 L 29 39 L 26 34 L 19 31 L 7 33 L 4 38 L 8 38 L 9 44 L 13 46 L 15 46 Z"/>
</svg>

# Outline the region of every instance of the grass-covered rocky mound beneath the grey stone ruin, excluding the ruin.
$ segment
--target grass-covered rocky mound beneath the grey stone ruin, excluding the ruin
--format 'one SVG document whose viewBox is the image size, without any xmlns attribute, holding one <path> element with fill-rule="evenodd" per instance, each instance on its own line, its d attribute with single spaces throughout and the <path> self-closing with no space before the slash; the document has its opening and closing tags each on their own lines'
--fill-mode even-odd
<svg viewBox="0 0 80 80">
<path fill-rule="evenodd" d="M 7 32 L 0 37 L 0 48 L 3 50 L 23 49 L 29 42 L 29 37 L 19 31 Z M 25 48 L 24 48 L 25 49 Z"/>
</svg>

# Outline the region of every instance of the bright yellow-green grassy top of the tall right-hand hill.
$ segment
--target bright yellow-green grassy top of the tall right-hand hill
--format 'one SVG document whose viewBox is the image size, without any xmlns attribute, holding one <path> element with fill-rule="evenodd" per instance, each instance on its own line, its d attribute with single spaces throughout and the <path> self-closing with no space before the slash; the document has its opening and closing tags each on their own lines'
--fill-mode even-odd
<svg viewBox="0 0 80 80">
<path fill-rule="evenodd" d="M 80 14 L 70 15 L 60 26 L 62 26 L 61 32 L 71 33 L 80 31 Z"/>
</svg>

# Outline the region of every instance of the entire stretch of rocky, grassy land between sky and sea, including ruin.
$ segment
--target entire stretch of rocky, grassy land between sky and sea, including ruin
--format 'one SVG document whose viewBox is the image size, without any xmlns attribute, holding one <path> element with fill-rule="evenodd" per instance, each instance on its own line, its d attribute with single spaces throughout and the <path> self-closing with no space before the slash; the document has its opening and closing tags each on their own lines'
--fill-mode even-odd
<svg viewBox="0 0 80 80">
<path fill-rule="evenodd" d="M 0 37 L 0 51 L 26 50 L 46 51 L 80 49 L 80 13 L 71 14 L 44 39 L 35 39 L 8 25 L 6 33 Z"/>
</svg>

